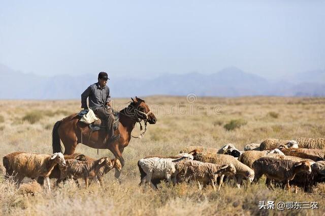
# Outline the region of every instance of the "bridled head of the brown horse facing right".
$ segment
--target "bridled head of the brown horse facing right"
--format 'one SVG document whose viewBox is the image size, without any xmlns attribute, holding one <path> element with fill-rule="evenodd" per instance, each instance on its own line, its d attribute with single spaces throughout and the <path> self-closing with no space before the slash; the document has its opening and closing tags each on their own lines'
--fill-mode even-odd
<svg viewBox="0 0 325 216">
<path fill-rule="evenodd" d="M 157 122 L 157 118 L 152 113 L 152 111 L 150 111 L 149 106 L 143 99 L 137 96 L 135 99 L 131 99 L 132 102 L 130 105 L 134 107 L 135 113 L 139 119 L 147 120 L 149 124 L 155 124 Z"/>
</svg>

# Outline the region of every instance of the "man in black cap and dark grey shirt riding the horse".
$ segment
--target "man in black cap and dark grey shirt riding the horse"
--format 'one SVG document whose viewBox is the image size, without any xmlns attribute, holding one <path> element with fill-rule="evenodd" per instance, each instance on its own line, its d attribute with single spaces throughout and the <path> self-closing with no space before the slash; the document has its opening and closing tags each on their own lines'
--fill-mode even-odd
<svg viewBox="0 0 325 216">
<path fill-rule="evenodd" d="M 114 135 L 114 116 L 111 107 L 111 95 L 110 89 L 107 84 L 109 80 L 107 73 L 102 71 L 98 75 L 98 83 L 90 85 L 81 94 L 81 108 L 88 110 L 87 97 L 90 109 L 98 116 L 102 121 L 106 122 L 107 132 L 110 137 L 107 145 L 119 138 L 119 135 Z"/>
</svg>

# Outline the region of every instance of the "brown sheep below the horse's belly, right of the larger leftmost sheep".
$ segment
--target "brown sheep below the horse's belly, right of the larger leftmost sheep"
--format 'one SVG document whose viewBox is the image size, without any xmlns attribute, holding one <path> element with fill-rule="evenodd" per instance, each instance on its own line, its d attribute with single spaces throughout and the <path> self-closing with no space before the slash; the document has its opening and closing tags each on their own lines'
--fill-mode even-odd
<svg viewBox="0 0 325 216">
<path fill-rule="evenodd" d="M 67 177 L 74 179 L 83 178 L 86 188 L 89 186 L 89 179 L 97 178 L 102 167 L 104 167 L 104 169 L 108 168 L 109 170 L 113 168 L 111 160 L 107 157 L 86 161 L 67 159 L 66 163 L 65 167 L 59 166 L 61 171 L 59 179 Z"/>
</svg>

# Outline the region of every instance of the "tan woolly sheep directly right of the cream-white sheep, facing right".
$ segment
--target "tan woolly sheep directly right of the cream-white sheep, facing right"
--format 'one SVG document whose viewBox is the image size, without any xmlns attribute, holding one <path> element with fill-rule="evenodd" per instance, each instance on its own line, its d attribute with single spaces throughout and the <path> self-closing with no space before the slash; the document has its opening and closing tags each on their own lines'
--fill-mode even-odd
<svg viewBox="0 0 325 216">
<path fill-rule="evenodd" d="M 200 183 L 203 184 L 203 187 L 211 184 L 214 191 L 216 190 L 214 182 L 216 182 L 217 176 L 236 174 L 236 168 L 233 164 L 217 165 L 212 163 L 187 160 L 177 163 L 175 165 L 175 168 L 175 176 L 177 182 L 184 182 L 185 179 L 188 179 L 188 181 L 198 181 L 200 189 Z M 220 190 L 220 187 L 221 185 L 219 185 L 218 190 Z"/>
</svg>

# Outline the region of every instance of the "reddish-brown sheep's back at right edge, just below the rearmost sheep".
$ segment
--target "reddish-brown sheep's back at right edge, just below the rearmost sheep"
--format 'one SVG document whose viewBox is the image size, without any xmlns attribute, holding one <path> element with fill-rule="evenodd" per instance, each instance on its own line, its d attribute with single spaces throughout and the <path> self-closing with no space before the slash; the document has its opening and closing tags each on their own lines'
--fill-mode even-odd
<svg viewBox="0 0 325 216">
<path fill-rule="evenodd" d="M 313 161 L 322 161 L 325 157 L 325 150 L 322 149 L 282 149 L 282 152 L 287 156 L 311 159 Z"/>
</svg>

